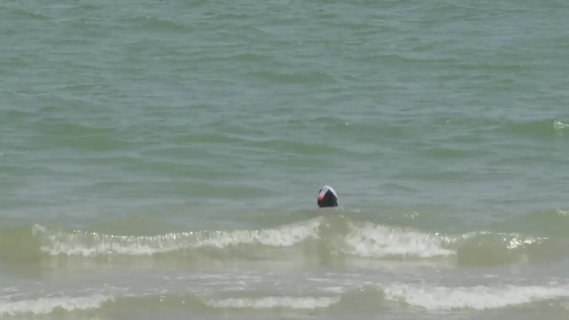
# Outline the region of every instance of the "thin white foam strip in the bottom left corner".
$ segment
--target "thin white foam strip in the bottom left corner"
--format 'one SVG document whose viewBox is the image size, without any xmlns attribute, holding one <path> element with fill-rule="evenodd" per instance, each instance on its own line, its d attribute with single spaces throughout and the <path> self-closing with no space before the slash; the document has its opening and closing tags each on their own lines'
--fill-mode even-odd
<svg viewBox="0 0 569 320">
<path fill-rule="evenodd" d="M 87 297 L 52 297 L 36 300 L 0 301 L 0 317 L 20 314 L 49 314 L 56 308 L 67 311 L 95 309 L 113 297 L 95 294 Z"/>
</svg>

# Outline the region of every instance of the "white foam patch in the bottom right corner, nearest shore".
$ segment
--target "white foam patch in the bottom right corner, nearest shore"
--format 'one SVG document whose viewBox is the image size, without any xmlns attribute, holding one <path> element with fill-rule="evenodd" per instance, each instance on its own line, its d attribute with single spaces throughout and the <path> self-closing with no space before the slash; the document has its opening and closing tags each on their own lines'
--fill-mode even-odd
<svg viewBox="0 0 569 320">
<path fill-rule="evenodd" d="M 424 287 L 392 285 L 384 288 L 387 300 L 405 301 L 425 309 L 495 309 L 539 300 L 569 297 L 569 288 L 553 286 Z"/>
</svg>

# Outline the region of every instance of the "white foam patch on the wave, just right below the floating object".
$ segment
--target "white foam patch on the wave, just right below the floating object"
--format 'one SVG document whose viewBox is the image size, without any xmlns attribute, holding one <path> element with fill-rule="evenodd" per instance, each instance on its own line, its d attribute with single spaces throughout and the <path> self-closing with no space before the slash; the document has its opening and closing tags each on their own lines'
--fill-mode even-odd
<svg viewBox="0 0 569 320">
<path fill-rule="evenodd" d="M 387 228 L 384 225 L 365 223 L 350 225 L 351 232 L 345 236 L 345 253 L 360 257 L 451 256 L 455 251 L 442 248 L 442 238 L 411 230 Z"/>
</svg>

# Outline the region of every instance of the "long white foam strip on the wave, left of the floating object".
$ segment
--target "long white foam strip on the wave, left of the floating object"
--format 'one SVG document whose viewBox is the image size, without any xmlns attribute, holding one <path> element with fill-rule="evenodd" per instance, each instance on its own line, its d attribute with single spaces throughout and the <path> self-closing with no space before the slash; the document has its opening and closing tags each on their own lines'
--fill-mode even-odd
<svg viewBox="0 0 569 320">
<path fill-rule="evenodd" d="M 42 240 L 40 250 L 49 255 L 92 257 L 97 255 L 152 255 L 187 248 L 226 248 L 238 244 L 288 247 L 308 238 L 318 238 L 321 219 L 280 228 L 213 232 L 167 233 L 156 236 L 117 236 L 96 232 L 51 231 L 35 225 L 32 232 Z"/>
</svg>

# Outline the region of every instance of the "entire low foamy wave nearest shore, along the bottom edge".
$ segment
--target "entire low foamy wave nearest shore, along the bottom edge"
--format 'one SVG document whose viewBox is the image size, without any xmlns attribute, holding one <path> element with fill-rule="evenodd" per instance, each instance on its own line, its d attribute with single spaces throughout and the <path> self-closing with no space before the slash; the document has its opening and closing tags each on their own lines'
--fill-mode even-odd
<svg viewBox="0 0 569 320">
<path fill-rule="evenodd" d="M 153 309 L 158 306 L 182 307 L 188 311 L 241 309 L 299 310 L 352 309 L 370 305 L 384 309 L 390 302 L 420 307 L 426 310 L 487 310 L 516 307 L 545 301 L 566 303 L 569 287 L 563 285 L 504 285 L 504 286 L 433 286 L 406 283 L 367 284 L 356 288 L 335 289 L 324 296 L 296 294 L 260 297 L 197 297 L 195 294 L 164 294 L 164 290 L 146 293 L 126 293 L 118 297 L 108 294 L 89 296 L 48 296 L 25 300 L 0 300 L 0 318 L 26 315 L 47 315 L 65 312 L 94 310 L 107 307 L 134 307 Z M 238 294 L 238 293 L 236 293 Z M 385 304 L 387 302 L 387 304 Z M 205 309 L 204 309 L 205 308 Z"/>
</svg>

